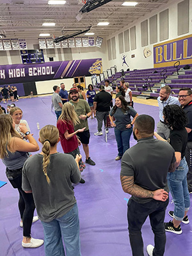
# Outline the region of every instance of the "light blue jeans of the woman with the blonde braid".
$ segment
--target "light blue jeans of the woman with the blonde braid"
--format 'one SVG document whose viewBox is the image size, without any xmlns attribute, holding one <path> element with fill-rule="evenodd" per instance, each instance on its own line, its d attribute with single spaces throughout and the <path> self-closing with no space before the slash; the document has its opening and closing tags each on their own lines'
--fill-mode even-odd
<svg viewBox="0 0 192 256">
<path fill-rule="evenodd" d="M 77 204 L 61 218 L 50 222 L 42 221 L 46 256 L 65 255 L 62 243 L 65 243 L 67 256 L 81 256 L 79 238 L 79 216 Z"/>
</svg>

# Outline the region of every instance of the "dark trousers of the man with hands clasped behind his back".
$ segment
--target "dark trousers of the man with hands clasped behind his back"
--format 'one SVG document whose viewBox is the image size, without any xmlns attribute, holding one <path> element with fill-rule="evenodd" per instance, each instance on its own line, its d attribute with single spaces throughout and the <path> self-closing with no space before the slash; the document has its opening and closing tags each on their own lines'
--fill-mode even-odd
<svg viewBox="0 0 192 256">
<path fill-rule="evenodd" d="M 166 202 L 152 199 L 145 204 L 138 204 L 132 198 L 128 202 L 127 219 L 129 224 L 129 239 L 133 256 L 144 256 L 143 239 L 141 228 L 149 216 L 150 225 L 154 232 L 154 252 L 153 256 L 163 256 L 166 243 L 166 234 L 164 230 L 164 214 L 168 205 Z"/>
</svg>

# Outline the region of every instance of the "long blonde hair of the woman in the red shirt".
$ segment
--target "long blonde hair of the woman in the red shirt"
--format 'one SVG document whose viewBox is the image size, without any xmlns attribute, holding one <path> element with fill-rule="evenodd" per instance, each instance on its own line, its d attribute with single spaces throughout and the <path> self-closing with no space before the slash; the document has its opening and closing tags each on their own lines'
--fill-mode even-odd
<svg viewBox="0 0 192 256">
<path fill-rule="evenodd" d="M 63 120 L 63 122 L 67 122 L 68 124 L 80 124 L 76 110 L 70 102 L 63 104 L 61 115 L 58 120 L 60 119 Z"/>
</svg>

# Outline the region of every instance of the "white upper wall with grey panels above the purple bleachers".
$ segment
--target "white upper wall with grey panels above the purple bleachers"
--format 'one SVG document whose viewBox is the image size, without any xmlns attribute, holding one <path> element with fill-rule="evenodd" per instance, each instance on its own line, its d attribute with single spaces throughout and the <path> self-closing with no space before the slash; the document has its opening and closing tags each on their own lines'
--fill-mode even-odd
<svg viewBox="0 0 192 256">
<path fill-rule="evenodd" d="M 118 33 L 114 33 L 111 36 L 108 36 L 106 40 L 109 38 L 112 38 L 115 36 L 115 42 L 116 42 L 116 59 L 115 60 L 108 60 L 107 56 L 107 66 L 112 67 L 113 65 L 116 65 L 117 70 L 120 70 L 124 68 L 124 70 L 127 69 L 127 66 L 122 67 L 122 54 L 119 53 L 119 44 L 118 44 L 118 34 L 124 32 L 127 29 L 132 28 L 132 26 L 136 26 L 136 50 L 124 52 L 124 55 L 127 56 L 125 58 L 127 64 L 129 65 L 129 68 L 131 70 L 133 69 L 142 69 L 142 68 L 153 68 L 154 67 L 154 59 L 153 59 L 153 45 L 162 43 L 164 41 L 159 41 L 159 12 L 162 12 L 166 9 L 169 9 L 169 36 L 168 40 L 172 40 L 178 37 L 190 35 L 192 33 L 192 0 L 189 0 L 189 33 L 186 33 L 182 36 L 177 36 L 177 4 L 182 2 L 181 0 L 170 0 L 168 1 L 168 4 L 163 5 L 161 8 L 159 8 L 156 12 L 151 12 L 150 14 L 145 15 L 141 19 L 137 20 L 136 22 L 132 23 L 129 27 L 124 27 Z M 152 51 L 152 55 L 148 58 L 145 58 L 143 56 L 143 49 L 145 47 L 141 47 L 141 22 L 143 22 L 146 19 L 149 19 L 150 17 L 157 14 L 157 30 L 158 30 L 158 37 L 157 37 L 157 43 L 156 44 L 150 44 L 149 43 L 149 20 L 148 20 L 148 45 L 145 47 L 148 47 L 150 51 Z M 130 35 L 130 30 L 129 30 Z M 135 58 L 131 58 L 131 55 L 135 54 Z"/>
</svg>

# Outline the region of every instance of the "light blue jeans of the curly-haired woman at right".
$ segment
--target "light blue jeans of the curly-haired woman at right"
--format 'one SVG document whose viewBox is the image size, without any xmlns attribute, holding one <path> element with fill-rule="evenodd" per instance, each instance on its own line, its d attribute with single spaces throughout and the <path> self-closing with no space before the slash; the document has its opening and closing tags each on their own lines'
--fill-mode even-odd
<svg viewBox="0 0 192 256">
<path fill-rule="evenodd" d="M 168 173 L 168 186 L 173 197 L 175 220 L 182 221 L 184 212 L 189 210 L 190 198 L 187 182 L 188 164 L 184 157 L 175 172 Z"/>
</svg>

